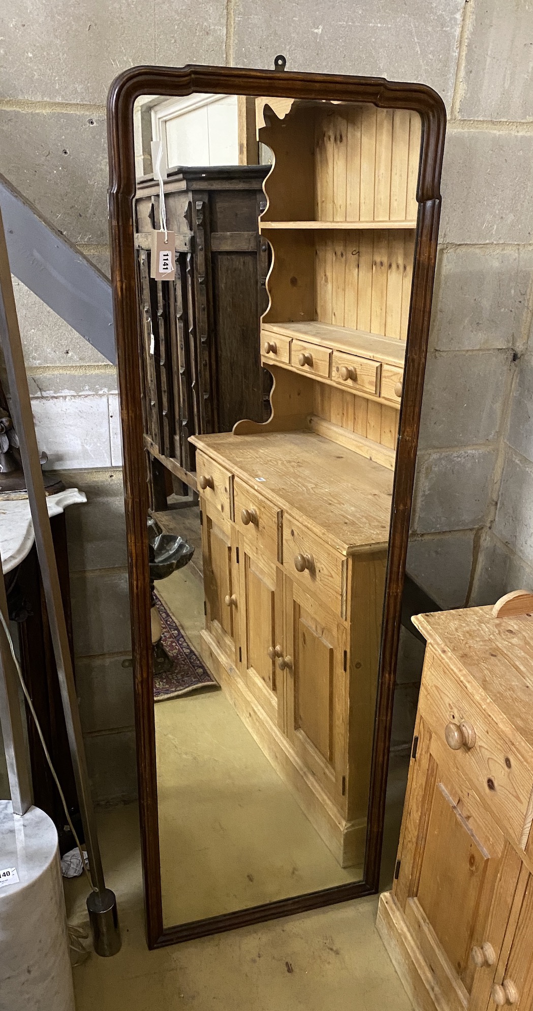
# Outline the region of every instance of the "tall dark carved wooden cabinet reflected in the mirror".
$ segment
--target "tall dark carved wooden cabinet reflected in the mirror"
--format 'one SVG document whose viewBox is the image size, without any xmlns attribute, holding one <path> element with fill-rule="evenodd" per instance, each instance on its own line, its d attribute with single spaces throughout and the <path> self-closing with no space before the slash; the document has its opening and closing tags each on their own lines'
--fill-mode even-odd
<svg viewBox="0 0 533 1011">
<path fill-rule="evenodd" d="M 269 251 L 258 217 L 266 206 L 268 171 L 260 165 L 169 171 L 167 227 L 176 236 L 176 279 L 170 282 L 150 277 L 159 186 L 153 177 L 138 183 L 143 416 L 153 508 L 162 504 L 154 501 L 162 465 L 194 486 L 189 436 L 228 432 L 243 418 L 263 421 L 259 320 L 268 304 Z"/>
</svg>

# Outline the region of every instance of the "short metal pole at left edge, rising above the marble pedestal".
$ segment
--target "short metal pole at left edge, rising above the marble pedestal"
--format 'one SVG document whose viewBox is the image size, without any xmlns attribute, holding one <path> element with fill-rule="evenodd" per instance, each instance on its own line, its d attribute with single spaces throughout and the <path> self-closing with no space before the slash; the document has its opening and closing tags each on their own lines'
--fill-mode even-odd
<svg viewBox="0 0 533 1011">
<path fill-rule="evenodd" d="M 4 574 L 0 563 L 0 611 L 9 624 Z M 26 747 L 18 677 L 3 628 L 0 628 L 0 726 L 4 739 L 7 777 L 13 814 L 24 815 L 31 807 L 31 784 L 26 761 Z"/>
</svg>

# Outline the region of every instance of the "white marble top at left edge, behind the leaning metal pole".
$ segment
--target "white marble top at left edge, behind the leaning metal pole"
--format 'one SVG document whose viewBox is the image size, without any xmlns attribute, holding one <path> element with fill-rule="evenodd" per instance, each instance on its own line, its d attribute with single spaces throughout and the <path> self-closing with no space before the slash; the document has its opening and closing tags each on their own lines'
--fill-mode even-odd
<svg viewBox="0 0 533 1011">
<path fill-rule="evenodd" d="M 49 516 L 59 516 L 67 505 L 86 502 L 85 492 L 66 488 L 57 495 L 48 495 Z M 27 498 L 0 499 L 0 559 L 4 572 L 20 565 L 33 547 L 33 523 Z"/>
</svg>

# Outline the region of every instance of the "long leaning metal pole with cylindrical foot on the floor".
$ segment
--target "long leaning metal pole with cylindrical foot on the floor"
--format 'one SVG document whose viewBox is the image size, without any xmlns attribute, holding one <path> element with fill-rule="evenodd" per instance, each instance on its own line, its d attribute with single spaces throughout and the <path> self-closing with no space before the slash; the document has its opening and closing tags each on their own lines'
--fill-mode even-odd
<svg viewBox="0 0 533 1011">
<path fill-rule="evenodd" d="M 52 529 L 50 526 L 50 518 L 47 508 L 42 473 L 40 470 L 39 453 L 37 449 L 35 429 L 33 426 L 31 401 L 29 399 L 24 357 L 20 342 L 20 332 L 18 329 L 13 285 L 11 282 L 9 259 L 7 255 L 1 213 L 0 344 L 3 350 L 7 385 L 11 397 L 10 412 L 15 426 L 16 434 L 18 436 L 20 458 L 22 460 L 22 469 L 26 479 L 29 508 L 31 511 L 31 519 L 33 521 L 35 546 L 37 549 L 42 587 L 47 602 L 50 630 L 54 644 L 54 655 L 58 667 L 63 711 L 65 713 L 65 722 L 67 724 L 67 733 L 69 737 L 72 763 L 74 766 L 74 777 L 76 780 L 80 813 L 85 832 L 87 855 L 89 857 L 89 865 L 95 888 L 99 893 L 107 893 L 109 890 L 105 888 L 102 862 L 100 858 L 96 820 L 90 793 L 85 748 L 83 745 L 82 728 L 78 710 L 78 700 L 74 683 L 74 671 L 67 635 L 67 624 L 65 622 L 65 612 L 63 610 L 63 601 L 61 598 L 58 566 L 54 551 L 54 542 L 52 539 Z M 91 913 L 90 906 L 89 912 Z M 109 944 L 102 945 L 102 950 L 99 951 L 101 954 L 114 954 L 120 947 L 119 935 L 116 926 L 116 905 L 114 921 L 116 937 L 110 939 Z M 94 934 L 94 936 L 96 940 L 96 934 Z M 116 946 L 116 943 L 118 946 Z M 106 948 L 105 950 L 103 950 L 104 947 Z"/>
</svg>

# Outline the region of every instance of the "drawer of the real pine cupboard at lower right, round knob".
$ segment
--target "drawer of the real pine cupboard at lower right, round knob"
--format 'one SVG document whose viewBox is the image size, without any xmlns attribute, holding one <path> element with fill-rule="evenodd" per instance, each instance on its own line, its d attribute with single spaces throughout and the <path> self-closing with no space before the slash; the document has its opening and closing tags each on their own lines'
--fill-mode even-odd
<svg viewBox="0 0 533 1011">
<path fill-rule="evenodd" d="M 464 776 L 508 838 L 524 849 L 531 825 L 533 771 L 511 735 L 431 649 L 419 709 L 448 768 Z"/>
</svg>

